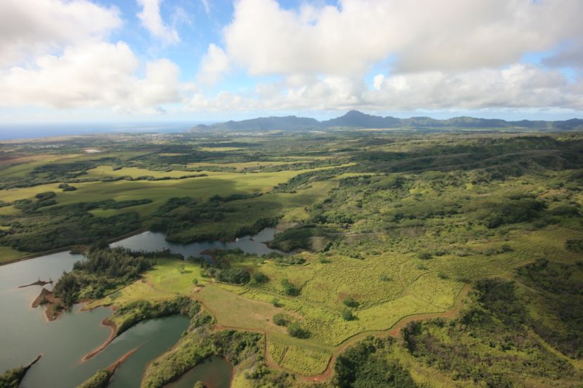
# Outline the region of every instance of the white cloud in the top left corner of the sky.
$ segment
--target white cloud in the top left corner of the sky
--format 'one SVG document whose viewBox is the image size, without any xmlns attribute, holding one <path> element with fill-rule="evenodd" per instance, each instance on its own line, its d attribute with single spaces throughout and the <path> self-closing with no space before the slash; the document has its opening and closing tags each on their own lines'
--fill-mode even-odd
<svg viewBox="0 0 583 388">
<path fill-rule="evenodd" d="M 58 51 L 65 45 L 98 41 L 120 25 L 117 8 L 86 0 L 2 0 L 0 66 Z"/>
</svg>

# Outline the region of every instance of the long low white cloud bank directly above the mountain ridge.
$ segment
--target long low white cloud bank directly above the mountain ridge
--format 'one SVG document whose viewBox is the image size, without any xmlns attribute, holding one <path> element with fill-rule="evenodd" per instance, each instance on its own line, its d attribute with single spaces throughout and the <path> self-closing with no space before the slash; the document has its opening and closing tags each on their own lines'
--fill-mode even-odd
<svg viewBox="0 0 583 388">
<path fill-rule="evenodd" d="M 249 111 L 305 109 L 530 109 L 583 110 L 583 82 L 570 83 L 561 72 L 515 64 L 456 74 L 428 71 L 374 77 L 370 89 L 358 78 L 324 76 L 302 86 L 261 84 L 253 96 L 197 95 L 188 109 Z M 238 97 L 238 98 L 237 98 Z"/>
</svg>

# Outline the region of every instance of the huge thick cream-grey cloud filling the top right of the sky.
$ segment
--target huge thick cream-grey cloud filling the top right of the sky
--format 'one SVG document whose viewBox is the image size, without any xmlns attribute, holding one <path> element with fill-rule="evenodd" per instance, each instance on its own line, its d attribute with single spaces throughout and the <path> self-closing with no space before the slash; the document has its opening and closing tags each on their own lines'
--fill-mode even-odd
<svg viewBox="0 0 583 388">
<path fill-rule="evenodd" d="M 583 36 L 578 0 L 339 3 L 290 11 L 275 0 L 240 0 L 225 51 L 253 75 L 364 74 L 389 55 L 400 72 L 452 72 L 509 65 Z"/>
</svg>

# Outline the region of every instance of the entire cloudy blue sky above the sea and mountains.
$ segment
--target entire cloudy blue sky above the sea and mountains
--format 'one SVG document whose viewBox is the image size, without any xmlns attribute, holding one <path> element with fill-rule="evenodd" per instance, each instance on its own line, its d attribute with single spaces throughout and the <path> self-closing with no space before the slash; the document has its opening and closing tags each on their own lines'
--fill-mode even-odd
<svg viewBox="0 0 583 388">
<path fill-rule="evenodd" d="M 0 123 L 583 117 L 581 0 L 1 0 Z"/>
</svg>

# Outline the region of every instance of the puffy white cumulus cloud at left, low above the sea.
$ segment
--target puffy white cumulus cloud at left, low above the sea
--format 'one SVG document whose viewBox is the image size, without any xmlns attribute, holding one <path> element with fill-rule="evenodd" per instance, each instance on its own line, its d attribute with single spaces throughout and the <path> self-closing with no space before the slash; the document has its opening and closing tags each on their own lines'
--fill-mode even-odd
<svg viewBox="0 0 583 388">
<path fill-rule="evenodd" d="M 162 110 L 160 105 L 180 100 L 176 65 L 169 60 L 148 62 L 145 78 L 138 79 L 139 65 L 123 42 L 66 48 L 60 56 L 41 56 L 34 67 L 0 72 L 0 101 L 4 106 L 155 113 Z"/>
</svg>

